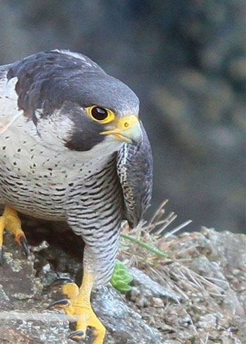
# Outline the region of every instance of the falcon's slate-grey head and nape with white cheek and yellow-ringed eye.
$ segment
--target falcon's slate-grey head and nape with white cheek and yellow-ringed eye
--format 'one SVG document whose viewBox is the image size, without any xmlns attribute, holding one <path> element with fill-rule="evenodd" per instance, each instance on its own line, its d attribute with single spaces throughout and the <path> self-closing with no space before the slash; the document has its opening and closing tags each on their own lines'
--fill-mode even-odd
<svg viewBox="0 0 246 344">
<path fill-rule="evenodd" d="M 44 145 L 109 154 L 141 143 L 139 100 L 131 89 L 84 55 L 48 51 L 15 62 L 18 107 Z"/>
</svg>

